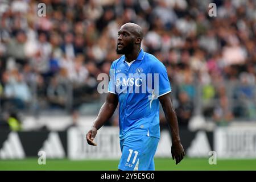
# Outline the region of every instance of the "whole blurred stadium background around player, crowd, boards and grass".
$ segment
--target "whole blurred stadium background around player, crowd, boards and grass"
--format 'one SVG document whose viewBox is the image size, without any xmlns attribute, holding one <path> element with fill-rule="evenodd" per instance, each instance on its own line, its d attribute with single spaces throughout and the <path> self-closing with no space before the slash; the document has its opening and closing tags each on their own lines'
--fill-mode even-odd
<svg viewBox="0 0 256 182">
<path fill-rule="evenodd" d="M 175 166 L 161 112 L 156 169 L 256 169 L 255 1 L 3 0 L 0 20 L 1 170 L 117 169 L 118 110 L 97 149 L 85 134 L 106 97 L 97 76 L 117 59 L 127 22 L 142 26 L 142 48 L 166 65 L 187 154 Z"/>
</svg>

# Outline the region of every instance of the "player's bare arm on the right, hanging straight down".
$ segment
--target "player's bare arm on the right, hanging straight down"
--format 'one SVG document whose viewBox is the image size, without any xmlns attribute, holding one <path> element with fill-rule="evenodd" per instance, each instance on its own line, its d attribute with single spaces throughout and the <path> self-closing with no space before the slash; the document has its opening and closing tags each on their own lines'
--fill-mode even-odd
<svg viewBox="0 0 256 182">
<path fill-rule="evenodd" d="M 175 113 L 175 109 L 172 106 L 171 96 L 170 93 L 164 94 L 163 96 L 158 98 L 162 107 L 164 114 L 166 115 L 166 120 L 171 130 L 172 136 L 172 159 L 176 160 L 176 164 L 178 164 L 185 155 L 183 146 L 180 142 L 180 135 L 179 135 L 179 126 L 177 122 L 177 116 Z"/>
</svg>

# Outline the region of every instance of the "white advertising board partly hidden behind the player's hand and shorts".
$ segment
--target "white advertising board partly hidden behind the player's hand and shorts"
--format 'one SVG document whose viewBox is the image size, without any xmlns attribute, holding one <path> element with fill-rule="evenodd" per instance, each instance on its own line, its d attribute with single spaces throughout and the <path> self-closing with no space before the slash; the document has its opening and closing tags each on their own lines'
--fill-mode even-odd
<svg viewBox="0 0 256 182">
<path fill-rule="evenodd" d="M 90 128 L 72 127 L 68 130 L 68 158 L 79 159 L 119 159 L 119 127 L 102 127 L 94 139 L 97 146 L 86 142 L 86 133 Z M 161 133 L 161 139 L 155 156 L 171 158 L 171 138 L 167 131 Z"/>
</svg>

